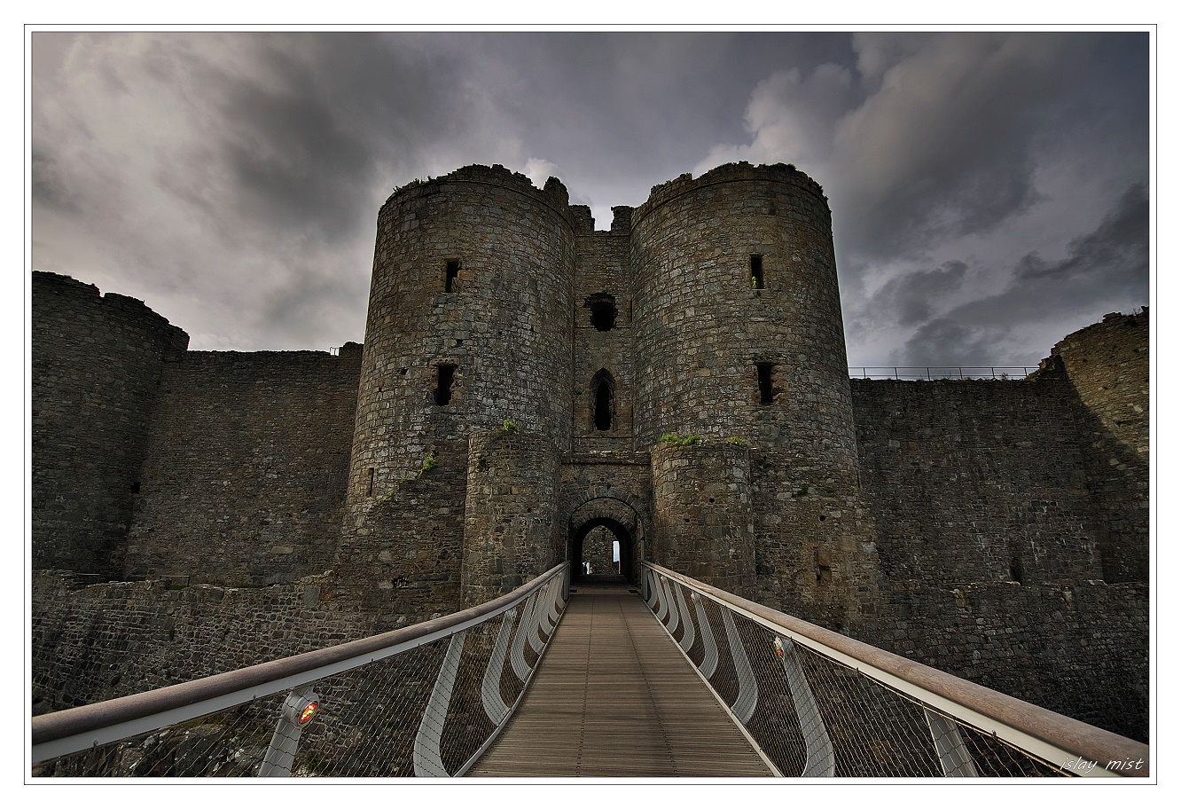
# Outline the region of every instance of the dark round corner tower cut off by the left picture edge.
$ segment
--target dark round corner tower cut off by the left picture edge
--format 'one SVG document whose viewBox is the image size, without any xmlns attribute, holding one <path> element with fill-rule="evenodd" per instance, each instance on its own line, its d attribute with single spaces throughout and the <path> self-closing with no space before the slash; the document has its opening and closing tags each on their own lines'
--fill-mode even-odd
<svg viewBox="0 0 1181 809">
<path fill-rule="evenodd" d="M 141 301 L 33 274 L 33 567 L 119 576 L 164 366 L 189 337 Z"/>
</svg>

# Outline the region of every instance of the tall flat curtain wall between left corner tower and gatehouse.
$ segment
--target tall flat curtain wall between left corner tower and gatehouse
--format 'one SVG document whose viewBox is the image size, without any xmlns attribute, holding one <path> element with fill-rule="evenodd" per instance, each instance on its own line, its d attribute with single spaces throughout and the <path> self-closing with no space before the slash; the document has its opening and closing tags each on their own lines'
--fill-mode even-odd
<svg viewBox="0 0 1181 809">
<path fill-rule="evenodd" d="M 360 346 L 188 352 L 146 431 L 125 574 L 230 587 L 332 567 Z"/>
</svg>

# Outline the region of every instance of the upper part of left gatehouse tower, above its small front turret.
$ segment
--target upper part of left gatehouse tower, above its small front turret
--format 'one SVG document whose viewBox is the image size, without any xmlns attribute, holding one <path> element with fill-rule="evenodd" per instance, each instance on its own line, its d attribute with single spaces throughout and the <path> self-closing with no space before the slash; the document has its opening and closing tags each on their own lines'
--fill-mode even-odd
<svg viewBox="0 0 1181 809">
<path fill-rule="evenodd" d="M 393 193 L 378 214 L 351 514 L 416 476 L 437 443 L 505 419 L 568 451 L 573 278 L 557 180 L 537 189 L 474 165 Z"/>
</svg>

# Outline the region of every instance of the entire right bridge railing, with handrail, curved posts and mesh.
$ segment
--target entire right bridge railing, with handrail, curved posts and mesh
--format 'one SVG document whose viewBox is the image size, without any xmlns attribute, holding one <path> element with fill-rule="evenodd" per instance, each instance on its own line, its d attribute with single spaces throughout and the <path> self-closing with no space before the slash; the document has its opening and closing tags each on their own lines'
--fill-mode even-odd
<svg viewBox="0 0 1181 809">
<path fill-rule="evenodd" d="M 1148 745 L 648 562 L 644 598 L 779 775 L 1149 775 Z"/>
</svg>

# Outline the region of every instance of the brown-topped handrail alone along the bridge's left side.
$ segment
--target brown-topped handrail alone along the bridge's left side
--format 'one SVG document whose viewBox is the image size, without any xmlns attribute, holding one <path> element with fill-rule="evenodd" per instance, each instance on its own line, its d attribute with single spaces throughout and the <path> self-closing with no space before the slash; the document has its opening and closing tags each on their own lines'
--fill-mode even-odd
<svg viewBox="0 0 1181 809">
<path fill-rule="evenodd" d="M 299 689 L 315 680 L 456 635 L 513 609 L 541 588 L 554 583 L 555 578 L 562 576 L 568 568 L 569 562 L 563 562 L 507 595 L 402 629 L 154 691 L 33 717 L 32 762 L 37 764 L 195 719 L 261 697 Z M 541 618 L 539 616 L 539 622 Z"/>
</svg>

